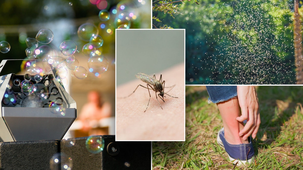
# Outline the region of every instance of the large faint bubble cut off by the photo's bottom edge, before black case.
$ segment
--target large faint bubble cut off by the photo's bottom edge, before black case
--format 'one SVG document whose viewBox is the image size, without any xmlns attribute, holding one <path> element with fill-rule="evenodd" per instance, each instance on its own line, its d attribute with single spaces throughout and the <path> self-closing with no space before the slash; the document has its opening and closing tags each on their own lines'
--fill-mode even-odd
<svg viewBox="0 0 303 170">
<path fill-rule="evenodd" d="M 65 153 L 56 153 L 49 160 L 49 168 L 51 170 L 66 169 L 72 170 L 73 160 Z"/>
</svg>

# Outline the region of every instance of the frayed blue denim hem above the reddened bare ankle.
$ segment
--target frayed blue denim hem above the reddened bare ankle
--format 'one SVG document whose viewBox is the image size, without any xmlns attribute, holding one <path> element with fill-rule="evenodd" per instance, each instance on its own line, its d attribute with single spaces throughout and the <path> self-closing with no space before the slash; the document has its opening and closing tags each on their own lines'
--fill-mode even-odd
<svg viewBox="0 0 303 170">
<path fill-rule="evenodd" d="M 219 103 L 238 96 L 237 86 L 206 86 L 208 103 Z"/>
</svg>

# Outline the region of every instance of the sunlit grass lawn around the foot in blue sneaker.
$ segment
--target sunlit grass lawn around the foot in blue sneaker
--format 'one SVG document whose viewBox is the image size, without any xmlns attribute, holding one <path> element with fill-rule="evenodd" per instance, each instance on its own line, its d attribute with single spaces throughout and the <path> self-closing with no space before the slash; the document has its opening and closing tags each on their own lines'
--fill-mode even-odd
<svg viewBox="0 0 303 170">
<path fill-rule="evenodd" d="M 258 86 L 261 125 L 255 163 L 234 166 L 216 143 L 223 127 L 205 86 L 186 86 L 185 142 L 153 142 L 152 165 L 160 169 L 303 169 L 303 86 Z"/>
</svg>

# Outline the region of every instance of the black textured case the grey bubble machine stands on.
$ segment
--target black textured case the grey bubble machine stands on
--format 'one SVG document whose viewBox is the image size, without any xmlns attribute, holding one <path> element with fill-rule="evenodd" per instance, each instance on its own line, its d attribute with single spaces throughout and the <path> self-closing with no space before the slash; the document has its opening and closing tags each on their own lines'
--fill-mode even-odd
<svg viewBox="0 0 303 170">
<path fill-rule="evenodd" d="M 89 148 L 90 137 L 104 139 L 103 151 Z M 151 169 L 151 142 L 90 137 L 0 142 L 0 169 Z"/>
</svg>

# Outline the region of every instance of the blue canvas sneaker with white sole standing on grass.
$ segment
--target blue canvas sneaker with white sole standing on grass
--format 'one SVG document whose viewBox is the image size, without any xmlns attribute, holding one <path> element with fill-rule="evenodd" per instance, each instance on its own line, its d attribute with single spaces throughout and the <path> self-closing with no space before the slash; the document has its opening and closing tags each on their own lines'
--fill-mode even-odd
<svg viewBox="0 0 303 170">
<path fill-rule="evenodd" d="M 252 146 L 251 137 L 248 137 L 248 144 L 239 144 L 239 145 L 231 145 L 229 144 L 224 137 L 224 128 L 219 130 L 217 136 L 218 144 L 225 149 L 229 160 L 237 165 L 242 165 L 247 163 L 251 163 L 254 161 L 254 147 Z"/>
</svg>

